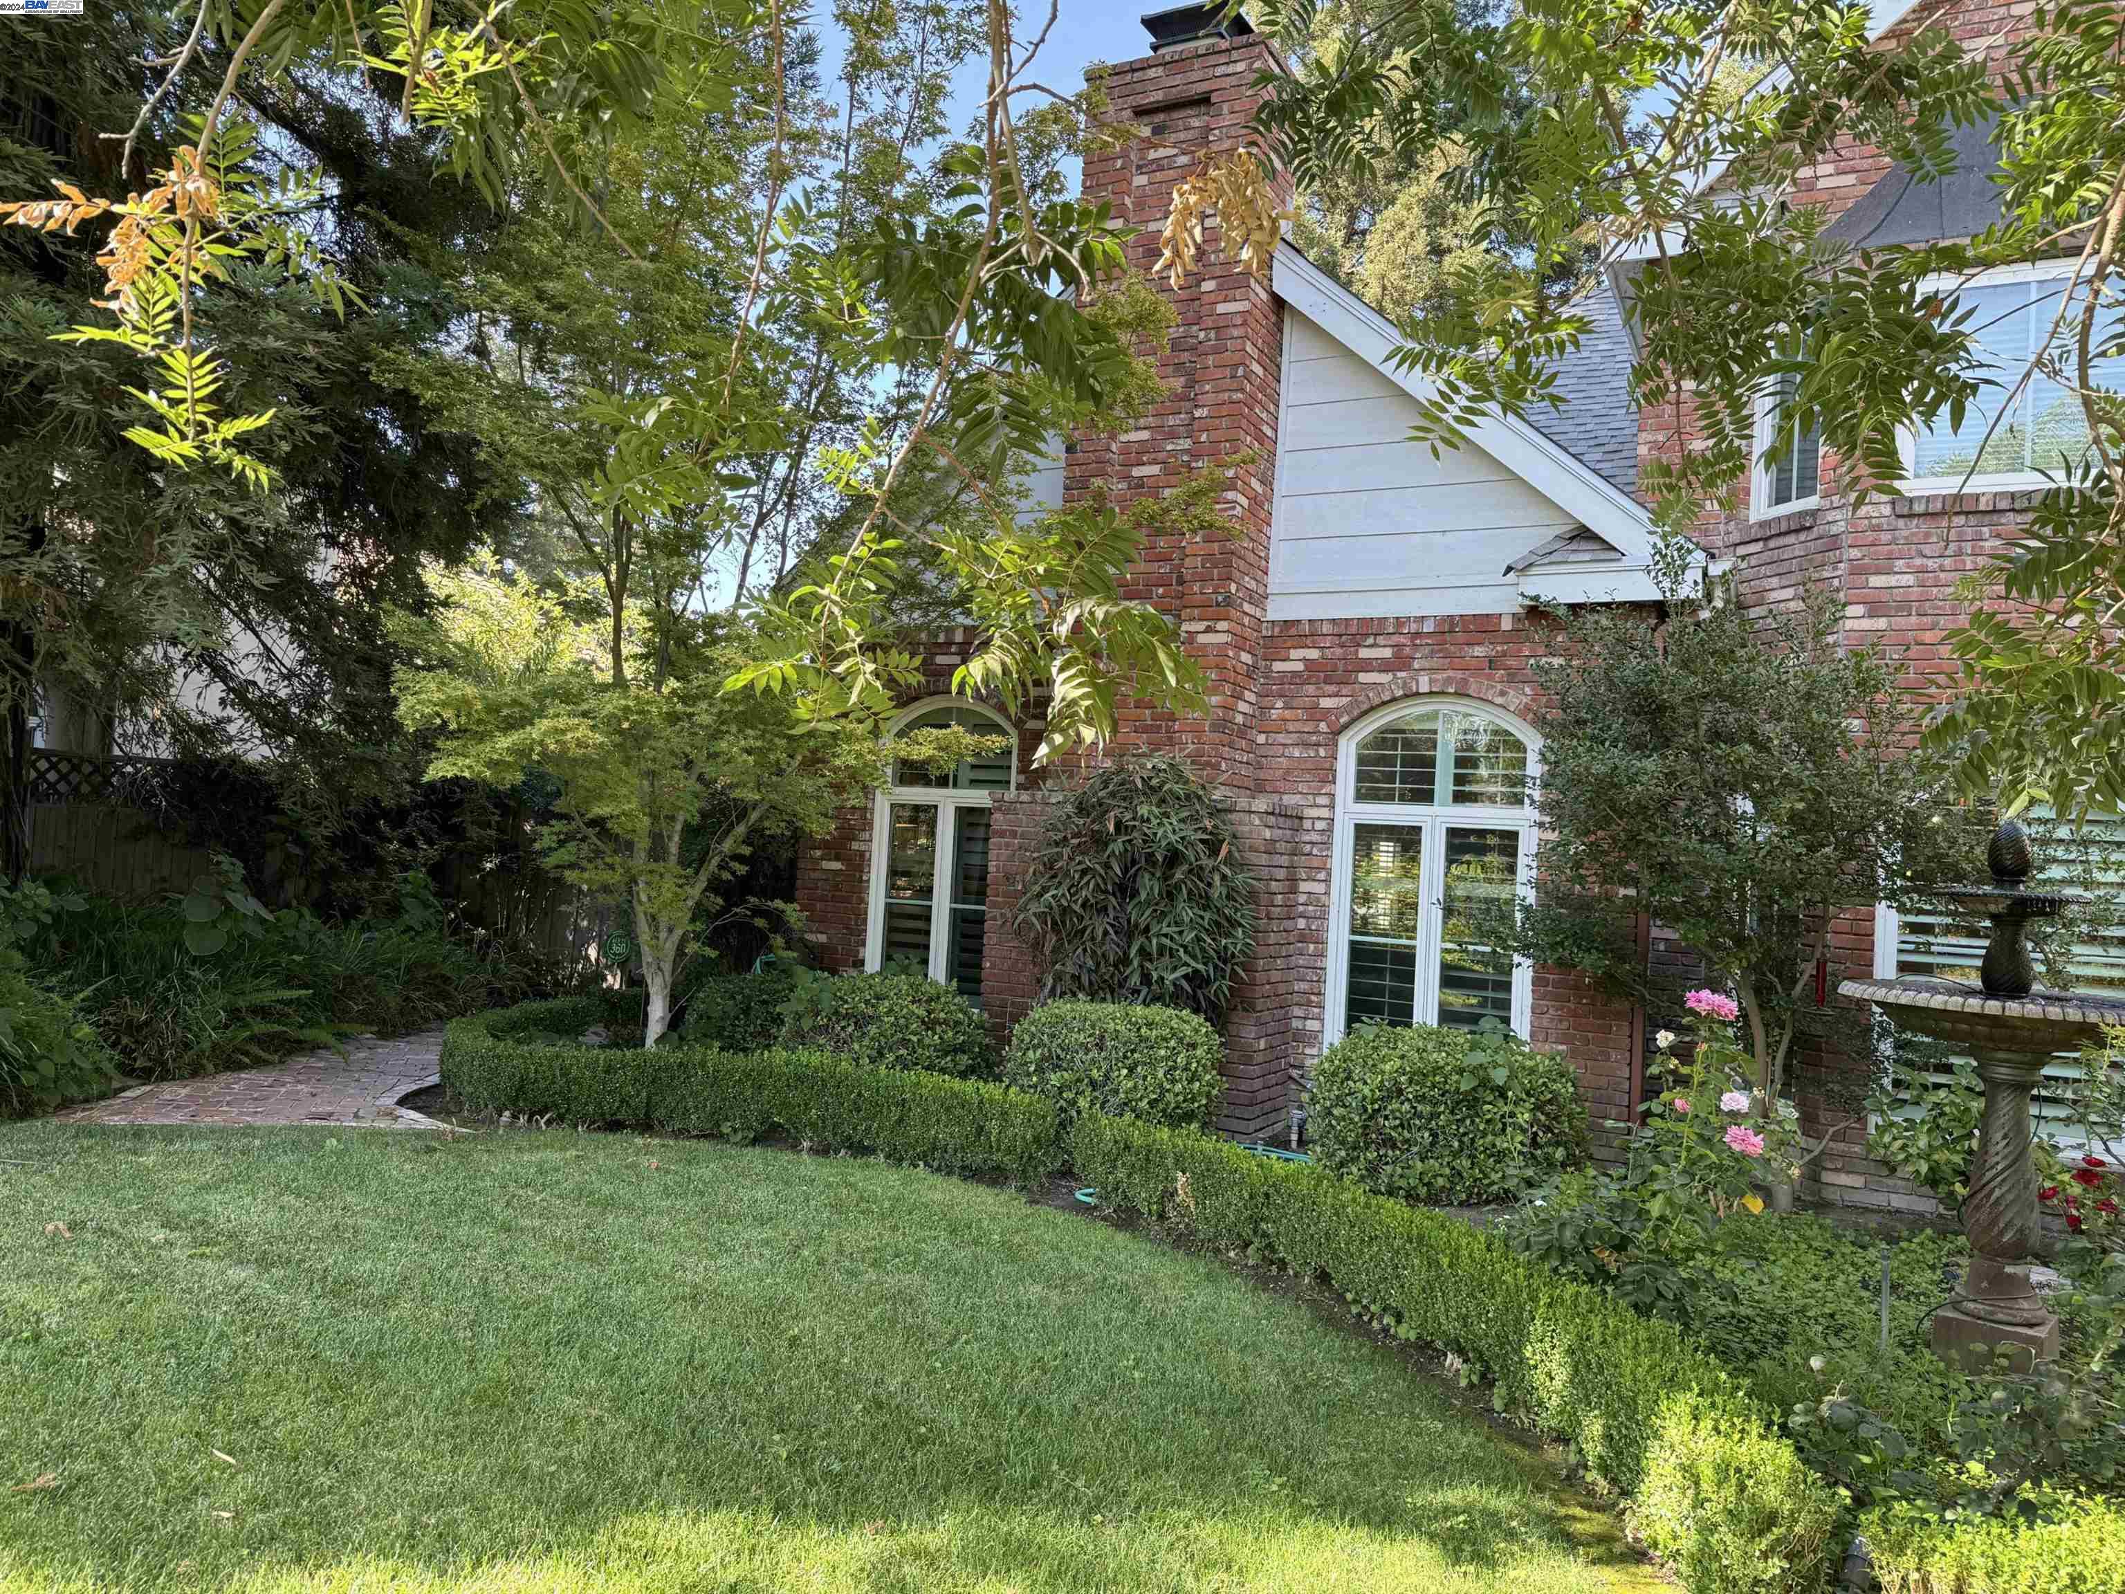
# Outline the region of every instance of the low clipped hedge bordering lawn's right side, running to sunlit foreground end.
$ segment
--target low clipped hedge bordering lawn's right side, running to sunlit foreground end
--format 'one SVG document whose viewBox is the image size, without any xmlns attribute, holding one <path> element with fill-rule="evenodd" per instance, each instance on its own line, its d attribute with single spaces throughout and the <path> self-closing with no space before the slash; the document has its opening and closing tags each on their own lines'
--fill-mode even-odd
<svg viewBox="0 0 2125 1594">
<path fill-rule="evenodd" d="M 1402 1339 L 1496 1381 L 1498 1407 L 1570 1439 L 1692 1594 L 1815 1594 L 1836 1492 L 1668 1324 L 1528 1267 L 1466 1224 L 1209 1135 L 1082 1118 L 1071 1165 L 1101 1201 L 1324 1275 Z"/>
</svg>

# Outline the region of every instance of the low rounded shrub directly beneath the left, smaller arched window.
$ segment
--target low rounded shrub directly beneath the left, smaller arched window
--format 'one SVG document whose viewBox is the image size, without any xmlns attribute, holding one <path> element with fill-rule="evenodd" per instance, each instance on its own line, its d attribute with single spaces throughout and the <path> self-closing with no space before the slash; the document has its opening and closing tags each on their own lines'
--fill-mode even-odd
<svg viewBox="0 0 2125 1594">
<path fill-rule="evenodd" d="M 952 986 L 918 973 L 801 973 L 782 1044 L 865 1069 L 969 1078 L 994 1069 L 988 1024 Z"/>
</svg>

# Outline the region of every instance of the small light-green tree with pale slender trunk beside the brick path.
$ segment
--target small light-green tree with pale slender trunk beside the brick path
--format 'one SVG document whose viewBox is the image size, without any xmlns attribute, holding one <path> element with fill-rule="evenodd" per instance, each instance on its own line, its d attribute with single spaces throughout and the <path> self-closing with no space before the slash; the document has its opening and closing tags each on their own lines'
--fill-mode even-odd
<svg viewBox="0 0 2125 1594">
<path fill-rule="evenodd" d="M 434 612 L 395 623 L 400 712 L 440 744 L 427 774 L 557 788 L 546 865 L 629 908 L 654 1046 L 695 939 L 752 910 L 722 895 L 750 850 L 824 831 L 884 780 L 890 750 L 854 720 L 801 723 L 786 697 L 725 693 L 750 657 L 727 616 L 635 604 L 614 659 L 601 591 L 546 591 L 493 557 L 431 567 L 429 582 Z"/>
</svg>

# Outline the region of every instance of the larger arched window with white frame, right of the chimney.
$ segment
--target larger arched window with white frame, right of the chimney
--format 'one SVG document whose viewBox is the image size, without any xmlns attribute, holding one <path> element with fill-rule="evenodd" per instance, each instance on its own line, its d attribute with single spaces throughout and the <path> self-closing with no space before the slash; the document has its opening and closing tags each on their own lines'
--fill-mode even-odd
<svg viewBox="0 0 2125 1594">
<path fill-rule="evenodd" d="M 1343 735 L 1328 1041 L 1485 1018 L 1528 1033 L 1532 969 L 1498 948 L 1532 878 L 1534 771 L 1532 731 L 1458 697 L 1396 703 Z"/>
</svg>

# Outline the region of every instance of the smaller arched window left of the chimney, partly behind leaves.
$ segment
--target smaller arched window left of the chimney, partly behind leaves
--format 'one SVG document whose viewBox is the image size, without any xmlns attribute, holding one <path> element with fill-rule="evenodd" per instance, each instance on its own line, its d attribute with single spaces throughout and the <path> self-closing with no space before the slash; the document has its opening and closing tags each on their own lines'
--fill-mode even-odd
<svg viewBox="0 0 2125 1594">
<path fill-rule="evenodd" d="M 952 769 L 895 763 L 871 823 L 871 918 L 863 967 L 914 967 L 982 1003 L 988 799 L 1018 784 L 1018 740 L 986 708 L 916 703 L 892 731 L 963 725 L 1009 746 Z"/>
</svg>

